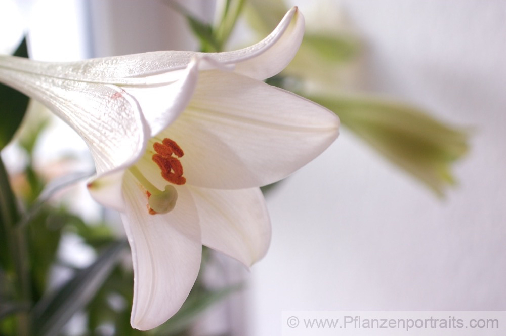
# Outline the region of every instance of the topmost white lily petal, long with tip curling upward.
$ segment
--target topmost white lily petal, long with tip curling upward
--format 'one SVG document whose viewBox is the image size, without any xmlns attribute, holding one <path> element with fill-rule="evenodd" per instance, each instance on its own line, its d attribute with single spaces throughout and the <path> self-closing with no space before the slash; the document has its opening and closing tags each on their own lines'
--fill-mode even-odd
<svg viewBox="0 0 506 336">
<path fill-rule="evenodd" d="M 96 58 L 78 62 L 50 63 L 0 56 L 0 67 L 40 75 L 114 85 L 151 85 L 180 78 L 192 58 L 206 56 L 225 64 L 237 64 L 238 73 L 265 79 L 281 72 L 297 53 L 304 34 L 304 18 L 296 7 L 288 11 L 274 31 L 250 47 L 223 53 L 158 51 Z M 156 75 L 153 78 L 146 76 Z"/>
</svg>

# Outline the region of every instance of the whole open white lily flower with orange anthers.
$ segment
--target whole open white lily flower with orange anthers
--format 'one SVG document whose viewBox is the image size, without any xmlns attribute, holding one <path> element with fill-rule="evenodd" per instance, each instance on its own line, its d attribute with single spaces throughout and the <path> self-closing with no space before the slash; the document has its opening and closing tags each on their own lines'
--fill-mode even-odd
<svg viewBox="0 0 506 336">
<path fill-rule="evenodd" d="M 293 58 L 304 19 L 291 9 L 260 43 L 233 52 L 153 52 L 74 63 L 0 57 L 0 81 L 40 100 L 87 141 L 92 195 L 121 211 L 132 249 L 131 324 L 174 315 L 201 246 L 249 266 L 270 221 L 259 189 L 338 136 L 327 109 L 262 80 Z"/>
</svg>

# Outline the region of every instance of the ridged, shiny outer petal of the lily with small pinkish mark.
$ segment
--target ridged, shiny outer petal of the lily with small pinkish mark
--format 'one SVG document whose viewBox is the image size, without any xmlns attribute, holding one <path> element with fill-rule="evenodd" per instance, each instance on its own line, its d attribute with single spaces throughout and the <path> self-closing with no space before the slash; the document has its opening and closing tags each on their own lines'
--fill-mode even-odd
<svg viewBox="0 0 506 336">
<path fill-rule="evenodd" d="M 88 144 L 97 173 L 130 165 L 143 154 L 146 122 L 121 88 L 44 77 L 0 66 L 0 80 L 51 109 Z"/>
</svg>

